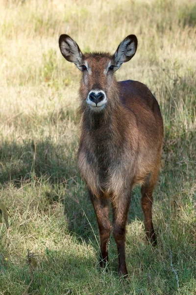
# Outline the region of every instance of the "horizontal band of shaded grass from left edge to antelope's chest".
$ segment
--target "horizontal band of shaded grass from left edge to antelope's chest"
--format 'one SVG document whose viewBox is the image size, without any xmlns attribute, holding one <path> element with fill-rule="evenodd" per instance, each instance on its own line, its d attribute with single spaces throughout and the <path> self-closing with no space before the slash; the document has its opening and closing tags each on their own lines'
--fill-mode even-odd
<svg viewBox="0 0 196 295">
<path fill-rule="evenodd" d="M 54 145 L 51 140 L 3 142 L 0 145 L 0 183 L 32 181 L 45 177 L 51 184 L 60 184 L 77 174 L 76 141 L 67 145 Z"/>
</svg>

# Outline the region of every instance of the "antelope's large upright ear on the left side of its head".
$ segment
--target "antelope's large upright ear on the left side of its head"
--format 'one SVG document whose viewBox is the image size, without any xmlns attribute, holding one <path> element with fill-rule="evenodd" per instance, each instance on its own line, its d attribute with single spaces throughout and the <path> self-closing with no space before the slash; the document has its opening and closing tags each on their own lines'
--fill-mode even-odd
<svg viewBox="0 0 196 295">
<path fill-rule="evenodd" d="M 73 62 L 80 70 L 82 53 L 77 43 L 68 35 L 60 35 L 59 48 L 65 59 Z"/>
</svg>

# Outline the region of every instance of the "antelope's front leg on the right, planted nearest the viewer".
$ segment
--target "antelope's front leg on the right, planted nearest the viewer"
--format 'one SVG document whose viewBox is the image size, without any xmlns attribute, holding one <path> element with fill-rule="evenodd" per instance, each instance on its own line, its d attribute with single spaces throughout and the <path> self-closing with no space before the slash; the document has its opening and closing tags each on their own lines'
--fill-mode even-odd
<svg viewBox="0 0 196 295">
<path fill-rule="evenodd" d="M 115 238 L 119 257 L 119 275 L 127 277 L 125 262 L 125 227 L 130 204 L 130 194 L 117 196 L 112 200 L 113 207 L 113 236 Z"/>
</svg>

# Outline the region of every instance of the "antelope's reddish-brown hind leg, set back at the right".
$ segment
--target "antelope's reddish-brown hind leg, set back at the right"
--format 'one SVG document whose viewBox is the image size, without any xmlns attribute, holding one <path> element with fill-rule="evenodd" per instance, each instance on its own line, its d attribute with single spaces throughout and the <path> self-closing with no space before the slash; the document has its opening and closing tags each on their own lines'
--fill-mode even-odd
<svg viewBox="0 0 196 295">
<path fill-rule="evenodd" d="M 157 244 L 156 235 L 154 233 L 153 223 L 152 223 L 152 203 L 153 203 L 153 189 L 157 182 L 158 172 L 153 172 L 146 178 L 145 183 L 142 185 L 142 209 L 145 217 L 145 231 L 147 240 L 149 240 L 153 245 Z"/>
</svg>

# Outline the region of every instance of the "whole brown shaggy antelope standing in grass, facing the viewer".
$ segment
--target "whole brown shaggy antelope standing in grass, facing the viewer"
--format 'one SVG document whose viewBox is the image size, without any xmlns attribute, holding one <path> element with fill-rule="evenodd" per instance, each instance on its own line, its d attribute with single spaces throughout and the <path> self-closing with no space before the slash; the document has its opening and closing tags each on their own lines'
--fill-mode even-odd
<svg viewBox="0 0 196 295">
<path fill-rule="evenodd" d="M 152 224 L 152 192 L 157 182 L 163 140 L 163 120 L 157 100 L 138 81 L 117 82 L 115 72 L 132 59 L 137 37 L 128 35 L 114 55 L 85 53 L 68 35 L 59 38 L 60 51 L 82 72 L 79 97 L 81 135 L 78 168 L 85 180 L 98 221 L 99 265 L 108 263 L 113 210 L 118 274 L 127 277 L 125 227 L 133 185 L 141 184 L 147 240 L 156 245 Z"/>
</svg>

